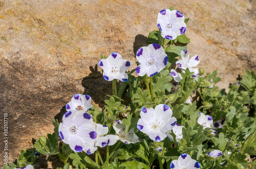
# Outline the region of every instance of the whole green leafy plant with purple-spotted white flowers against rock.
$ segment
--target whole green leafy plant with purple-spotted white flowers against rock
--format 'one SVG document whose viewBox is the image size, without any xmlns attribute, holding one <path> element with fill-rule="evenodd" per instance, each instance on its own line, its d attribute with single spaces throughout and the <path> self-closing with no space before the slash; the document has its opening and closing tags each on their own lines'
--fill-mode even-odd
<svg viewBox="0 0 256 169">
<path fill-rule="evenodd" d="M 113 84 L 103 109 L 75 94 L 62 122 L 53 119 L 54 133 L 5 168 L 31 168 L 40 155 L 58 155 L 65 169 L 254 167 L 256 75 L 248 70 L 228 93 L 218 90 L 217 71 L 205 75 L 194 68 L 198 55 L 189 59 L 187 21 L 173 8 L 160 11 L 134 70 L 117 52 L 101 57 L 102 79 Z"/>
</svg>

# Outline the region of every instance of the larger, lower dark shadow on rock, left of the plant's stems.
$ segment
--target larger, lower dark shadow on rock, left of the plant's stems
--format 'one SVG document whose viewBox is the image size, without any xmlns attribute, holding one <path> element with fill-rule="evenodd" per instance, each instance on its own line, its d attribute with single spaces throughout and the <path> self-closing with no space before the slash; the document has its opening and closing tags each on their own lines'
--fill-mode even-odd
<svg viewBox="0 0 256 169">
<path fill-rule="evenodd" d="M 102 108 L 105 105 L 104 100 L 109 99 L 106 95 L 112 95 L 112 82 L 103 78 L 97 64 L 94 68 L 90 66 L 90 70 L 91 73 L 82 79 L 83 95 L 91 96 L 92 100 Z"/>
</svg>

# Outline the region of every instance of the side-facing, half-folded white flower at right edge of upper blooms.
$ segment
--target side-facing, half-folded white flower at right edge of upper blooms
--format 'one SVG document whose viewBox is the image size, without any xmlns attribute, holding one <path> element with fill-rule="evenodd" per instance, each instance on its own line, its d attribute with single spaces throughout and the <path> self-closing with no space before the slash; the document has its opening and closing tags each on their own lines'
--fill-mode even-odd
<svg viewBox="0 0 256 169">
<path fill-rule="evenodd" d="M 191 77 L 196 78 L 197 76 L 199 76 L 199 72 L 197 68 L 193 68 L 196 67 L 200 61 L 198 58 L 198 55 L 194 55 L 194 57 L 191 57 L 189 59 L 189 54 L 187 50 L 182 50 L 181 51 L 181 59 L 180 61 L 176 62 L 176 65 L 178 65 L 178 68 L 183 69 L 183 72 L 185 72 L 185 70 L 188 68 L 190 72 L 194 72 L 194 75 Z"/>
</svg>

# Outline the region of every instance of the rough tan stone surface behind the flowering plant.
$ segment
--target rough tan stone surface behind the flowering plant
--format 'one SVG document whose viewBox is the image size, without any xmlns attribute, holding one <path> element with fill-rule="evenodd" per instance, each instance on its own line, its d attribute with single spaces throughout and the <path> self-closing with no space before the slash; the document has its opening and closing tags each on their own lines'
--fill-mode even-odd
<svg viewBox="0 0 256 169">
<path fill-rule="evenodd" d="M 256 71 L 255 0 L 1 0 L 0 111 L 1 121 L 8 113 L 9 163 L 53 132 L 52 117 L 61 117 L 74 94 L 102 107 L 111 82 L 96 66 L 99 55 L 116 51 L 135 68 L 135 52 L 170 6 L 190 18 L 188 51 L 199 54 L 206 72 L 218 70 L 221 88 Z"/>
</svg>

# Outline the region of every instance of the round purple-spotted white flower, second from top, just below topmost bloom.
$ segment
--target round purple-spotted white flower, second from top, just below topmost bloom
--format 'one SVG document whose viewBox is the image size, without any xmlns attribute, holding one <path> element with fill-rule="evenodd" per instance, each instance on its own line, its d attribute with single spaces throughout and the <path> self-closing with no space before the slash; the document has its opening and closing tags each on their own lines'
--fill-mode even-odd
<svg viewBox="0 0 256 169">
<path fill-rule="evenodd" d="M 136 68 L 139 76 L 154 76 L 167 64 L 167 54 L 159 44 L 150 44 L 138 49 L 136 59 L 140 65 Z"/>
</svg>

